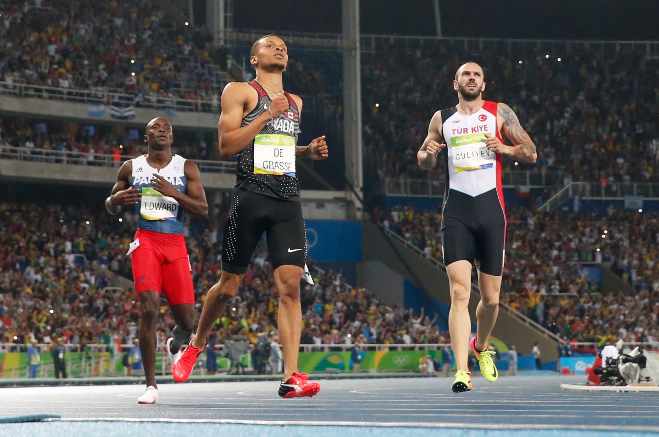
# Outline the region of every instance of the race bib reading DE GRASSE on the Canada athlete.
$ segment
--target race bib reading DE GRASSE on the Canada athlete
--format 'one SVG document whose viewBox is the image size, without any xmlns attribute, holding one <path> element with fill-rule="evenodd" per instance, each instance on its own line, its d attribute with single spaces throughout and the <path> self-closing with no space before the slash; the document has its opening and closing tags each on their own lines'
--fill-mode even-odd
<svg viewBox="0 0 659 437">
<path fill-rule="evenodd" d="M 254 138 L 254 174 L 295 177 L 295 138 L 261 134 Z"/>
</svg>

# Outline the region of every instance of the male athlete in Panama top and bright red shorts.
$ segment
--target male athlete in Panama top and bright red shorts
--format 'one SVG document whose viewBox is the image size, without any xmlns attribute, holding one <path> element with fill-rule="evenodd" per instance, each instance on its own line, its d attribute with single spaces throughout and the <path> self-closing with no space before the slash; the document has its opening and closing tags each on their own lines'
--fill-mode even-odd
<svg viewBox="0 0 659 437">
<path fill-rule="evenodd" d="M 171 152 L 173 138 L 165 118 L 151 120 L 144 135 L 148 153 L 123 163 L 112 194 L 105 199 L 110 214 L 134 206 L 139 217 L 127 253 L 132 253 L 132 276 L 142 309 L 139 343 L 146 392 L 138 403 L 158 399 L 156 322 L 161 292 L 176 322 L 165 346 L 172 364 L 181 357 L 181 346 L 190 341 L 194 328 L 194 289 L 183 238 L 183 211 L 206 217 L 208 203 L 197 166 Z"/>
</svg>

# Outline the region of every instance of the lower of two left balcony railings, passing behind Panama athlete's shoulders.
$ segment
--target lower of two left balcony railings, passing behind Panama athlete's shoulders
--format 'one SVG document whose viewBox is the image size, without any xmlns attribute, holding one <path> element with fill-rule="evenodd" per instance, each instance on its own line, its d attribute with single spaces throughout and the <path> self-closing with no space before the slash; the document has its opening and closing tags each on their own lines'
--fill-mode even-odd
<svg viewBox="0 0 659 437">
<path fill-rule="evenodd" d="M 90 155 L 93 159 L 90 159 Z M 86 153 L 53 149 L 26 149 L 25 147 L 1 147 L 0 159 L 32 161 L 55 164 L 95 165 L 98 167 L 120 167 L 123 161 L 132 159 L 130 155 L 109 155 L 107 153 Z M 229 161 L 194 161 L 200 172 L 233 173 L 235 162 Z"/>
</svg>

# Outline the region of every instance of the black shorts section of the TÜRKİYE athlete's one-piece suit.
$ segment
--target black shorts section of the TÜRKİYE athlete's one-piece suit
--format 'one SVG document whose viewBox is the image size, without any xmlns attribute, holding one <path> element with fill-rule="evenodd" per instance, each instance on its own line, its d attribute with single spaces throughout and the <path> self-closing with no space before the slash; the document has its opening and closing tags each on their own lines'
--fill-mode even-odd
<svg viewBox="0 0 659 437">
<path fill-rule="evenodd" d="M 496 189 L 476 197 L 449 190 L 442 212 L 444 264 L 466 259 L 483 273 L 501 276 L 505 225 Z"/>
</svg>

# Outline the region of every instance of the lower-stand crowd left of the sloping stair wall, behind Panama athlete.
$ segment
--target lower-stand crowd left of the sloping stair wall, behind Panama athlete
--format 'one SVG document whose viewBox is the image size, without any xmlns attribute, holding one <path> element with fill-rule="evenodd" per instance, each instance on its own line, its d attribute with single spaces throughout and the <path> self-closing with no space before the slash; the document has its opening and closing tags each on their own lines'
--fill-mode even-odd
<svg viewBox="0 0 659 437">
<path fill-rule="evenodd" d="M 50 342 L 131 344 L 140 319 L 134 290 L 103 290 L 105 272 L 132 278 L 125 257 L 136 215 L 122 221 L 85 207 L 0 204 L 0 343 Z M 219 223 L 189 228 L 187 242 L 200 309 L 208 288 L 219 279 Z M 98 269 L 94 267 L 96 265 Z M 312 264 L 313 265 L 313 264 Z M 275 332 L 277 291 L 265 244 L 231 303 L 218 319 L 217 338 L 247 336 L 256 343 Z M 372 292 L 348 286 L 341 274 L 318 273 L 302 292 L 308 344 L 438 343 L 444 338 L 435 319 L 387 307 Z M 158 330 L 169 334 L 173 318 L 161 307 Z M 15 338 L 14 338 L 15 337 Z"/>
</svg>

